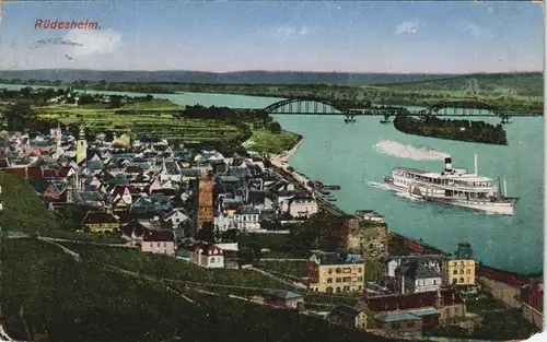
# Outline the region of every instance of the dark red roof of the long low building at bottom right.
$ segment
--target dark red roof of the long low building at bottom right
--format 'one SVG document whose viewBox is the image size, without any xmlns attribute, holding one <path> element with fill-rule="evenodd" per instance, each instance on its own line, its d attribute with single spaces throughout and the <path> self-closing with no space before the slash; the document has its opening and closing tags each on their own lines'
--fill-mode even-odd
<svg viewBox="0 0 547 342">
<path fill-rule="evenodd" d="M 463 304 L 462 297 L 452 288 L 442 290 L 443 306 Z M 437 292 L 420 292 L 405 295 L 374 297 L 366 299 L 368 307 L 374 312 L 409 310 L 435 306 Z"/>
</svg>

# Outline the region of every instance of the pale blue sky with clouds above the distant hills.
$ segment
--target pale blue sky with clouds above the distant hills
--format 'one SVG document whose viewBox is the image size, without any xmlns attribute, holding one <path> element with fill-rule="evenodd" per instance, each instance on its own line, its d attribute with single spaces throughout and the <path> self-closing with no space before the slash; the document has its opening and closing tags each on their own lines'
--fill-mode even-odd
<svg viewBox="0 0 547 342">
<path fill-rule="evenodd" d="M 1 11 L 0 70 L 470 73 L 540 71 L 544 60 L 543 9 L 524 1 L 4 1 Z"/>
</svg>

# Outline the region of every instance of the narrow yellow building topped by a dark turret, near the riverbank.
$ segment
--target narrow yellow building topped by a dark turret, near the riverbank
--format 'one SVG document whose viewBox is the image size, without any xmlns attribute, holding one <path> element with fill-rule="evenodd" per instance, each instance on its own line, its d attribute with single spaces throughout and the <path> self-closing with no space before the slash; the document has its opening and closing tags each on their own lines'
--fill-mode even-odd
<svg viewBox="0 0 547 342">
<path fill-rule="evenodd" d="M 447 285 L 475 285 L 475 259 L 469 244 L 458 244 L 454 256 L 443 261 L 443 280 Z"/>
</svg>

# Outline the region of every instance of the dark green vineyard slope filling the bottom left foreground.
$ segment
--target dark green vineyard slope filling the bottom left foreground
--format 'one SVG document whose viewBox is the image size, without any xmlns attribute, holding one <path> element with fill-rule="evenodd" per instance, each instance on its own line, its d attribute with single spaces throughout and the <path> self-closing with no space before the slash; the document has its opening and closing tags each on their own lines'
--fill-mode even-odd
<svg viewBox="0 0 547 342">
<path fill-rule="evenodd" d="M 296 312 L 184 293 L 191 304 L 161 284 L 77 262 L 38 240 L 2 240 L 0 247 L 0 302 L 15 340 L 387 341 Z"/>
</svg>

